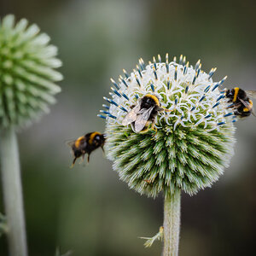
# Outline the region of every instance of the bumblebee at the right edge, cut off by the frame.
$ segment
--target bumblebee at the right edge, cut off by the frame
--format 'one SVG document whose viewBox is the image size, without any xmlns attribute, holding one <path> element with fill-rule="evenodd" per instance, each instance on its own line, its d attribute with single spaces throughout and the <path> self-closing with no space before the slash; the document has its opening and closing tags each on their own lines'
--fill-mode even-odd
<svg viewBox="0 0 256 256">
<path fill-rule="evenodd" d="M 244 118 L 253 113 L 253 101 L 249 96 L 256 98 L 256 90 L 242 90 L 239 87 L 235 87 L 226 90 L 225 96 L 229 99 L 228 102 L 232 102 L 228 108 L 232 108 L 236 116 Z"/>
</svg>

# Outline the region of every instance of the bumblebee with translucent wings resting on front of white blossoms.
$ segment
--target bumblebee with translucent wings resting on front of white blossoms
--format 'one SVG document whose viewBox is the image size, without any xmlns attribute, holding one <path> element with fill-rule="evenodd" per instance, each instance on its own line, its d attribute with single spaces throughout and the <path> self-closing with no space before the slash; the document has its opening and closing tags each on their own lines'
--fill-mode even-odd
<svg viewBox="0 0 256 256">
<path fill-rule="evenodd" d="M 157 114 L 165 110 L 169 111 L 160 106 L 157 96 L 147 94 L 139 98 L 136 105 L 131 106 L 131 111 L 126 114 L 122 125 L 131 125 L 132 130 L 138 133 L 148 131 L 148 125 L 152 123 L 152 129 L 157 131 L 154 127 Z"/>
</svg>

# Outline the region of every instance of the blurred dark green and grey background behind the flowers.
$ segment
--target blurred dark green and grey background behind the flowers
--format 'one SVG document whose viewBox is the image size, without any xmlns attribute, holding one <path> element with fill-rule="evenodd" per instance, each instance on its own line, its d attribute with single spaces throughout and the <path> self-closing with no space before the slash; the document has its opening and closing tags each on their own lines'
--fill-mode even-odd
<svg viewBox="0 0 256 256">
<path fill-rule="evenodd" d="M 9 13 L 37 23 L 59 47 L 63 61 L 58 103 L 38 124 L 20 133 L 26 227 L 30 255 L 160 255 L 137 236 L 162 224 L 163 200 L 137 195 L 119 181 L 101 150 L 89 166 L 69 166 L 67 139 L 104 131 L 96 117 L 109 78 L 153 55 L 200 58 L 218 67 L 224 86 L 256 90 L 255 1 L 1 0 Z M 236 124 L 236 156 L 212 189 L 183 195 L 181 256 L 253 255 L 256 230 L 256 119 Z M 1 188 L 0 188 L 1 189 Z M 2 193 L 2 192 L 1 192 Z M 2 196 L 0 211 L 3 212 Z M 0 238 L 0 255 L 7 241 Z"/>
</svg>

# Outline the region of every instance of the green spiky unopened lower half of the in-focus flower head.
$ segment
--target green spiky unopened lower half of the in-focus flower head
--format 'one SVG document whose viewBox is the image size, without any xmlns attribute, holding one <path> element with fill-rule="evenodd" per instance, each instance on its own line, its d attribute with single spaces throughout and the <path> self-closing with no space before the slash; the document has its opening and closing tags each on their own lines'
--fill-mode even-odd
<svg viewBox="0 0 256 256">
<path fill-rule="evenodd" d="M 108 125 L 106 151 L 121 180 L 140 194 L 155 197 L 162 190 L 183 189 L 189 195 L 211 186 L 233 154 L 232 125 L 222 131 L 166 128 L 136 134 L 131 128 Z M 166 131 L 168 129 L 169 131 Z"/>
</svg>

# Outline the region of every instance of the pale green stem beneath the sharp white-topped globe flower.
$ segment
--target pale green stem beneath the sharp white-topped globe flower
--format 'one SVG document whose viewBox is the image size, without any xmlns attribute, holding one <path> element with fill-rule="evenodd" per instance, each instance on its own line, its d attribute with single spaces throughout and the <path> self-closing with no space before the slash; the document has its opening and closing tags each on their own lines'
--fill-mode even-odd
<svg viewBox="0 0 256 256">
<path fill-rule="evenodd" d="M 164 248 L 163 256 L 177 256 L 180 229 L 181 192 L 166 195 L 164 208 Z"/>
</svg>

